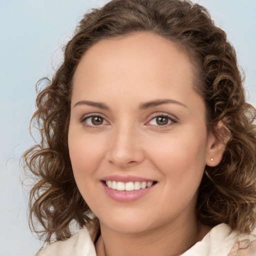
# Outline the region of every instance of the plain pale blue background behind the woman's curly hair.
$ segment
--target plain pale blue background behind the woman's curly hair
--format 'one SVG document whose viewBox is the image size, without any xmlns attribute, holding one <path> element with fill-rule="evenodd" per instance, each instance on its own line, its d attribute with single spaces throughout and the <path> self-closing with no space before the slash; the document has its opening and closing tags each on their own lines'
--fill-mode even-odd
<svg viewBox="0 0 256 256">
<path fill-rule="evenodd" d="M 194 0 L 227 32 L 256 105 L 256 0 Z M 35 83 L 51 76 L 61 45 L 82 14 L 105 0 L 0 0 L 0 256 L 32 256 L 40 244 L 27 224 L 27 190 L 19 158 L 28 133 Z M 247 93 L 247 95 L 248 95 Z"/>
</svg>

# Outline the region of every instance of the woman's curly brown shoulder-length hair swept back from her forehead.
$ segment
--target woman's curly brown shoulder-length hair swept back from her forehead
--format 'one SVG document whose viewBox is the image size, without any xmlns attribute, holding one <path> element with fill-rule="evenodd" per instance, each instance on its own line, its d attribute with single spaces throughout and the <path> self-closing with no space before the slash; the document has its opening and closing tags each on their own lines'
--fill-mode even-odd
<svg viewBox="0 0 256 256">
<path fill-rule="evenodd" d="M 61 66 L 51 80 L 42 79 L 47 86 L 36 98 L 31 125 L 39 129 L 41 141 L 23 154 L 24 168 L 36 177 L 29 200 L 31 228 L 49 242 L 68 238 L 71 221 L 82 226 L 91 220 L 68 154 L 72 77 L 92 44 L 136 31 L 167 38 L 188 54 L 196 69 L 195 90 L 205 100 L 208 130 L 216 133 L 221 120 L 229 133 L 221 162 L 205 166 L 198 220 L 249 232 L 256 224 L 255 109 L 245 102 L 235 51 L 225 32 L 204 7 L 188 0 L 112 0 L 84 15 L 65 46 Z"/>
</svg>

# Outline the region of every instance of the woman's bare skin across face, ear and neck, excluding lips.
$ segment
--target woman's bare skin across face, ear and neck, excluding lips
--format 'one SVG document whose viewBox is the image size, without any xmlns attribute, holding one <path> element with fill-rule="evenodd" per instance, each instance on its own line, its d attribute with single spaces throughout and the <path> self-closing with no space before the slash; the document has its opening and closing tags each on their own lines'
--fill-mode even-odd
<svg viewBox="0 0 256 256">
<path fill-rule="evenodd" d="M 207 132 L 194 80 L 186 54 L 146 32 L 101 40 L 81 58 L 68 146 L 79 191 L 100 222 L 97 255 L 179 255 L 209 231 L 196 220 L 197 190 L 205 165 L 217 165 L 224 146 Z M 164 99 L 171 101 L 140 107 Z M 91 114 L 103 122 L 93 125 Z M 162 115 L 165 125 L 156 122 Z M 101 182 L 114 174 L 157 183 L 138 200 L 118 202 Z"/>
</svg>

